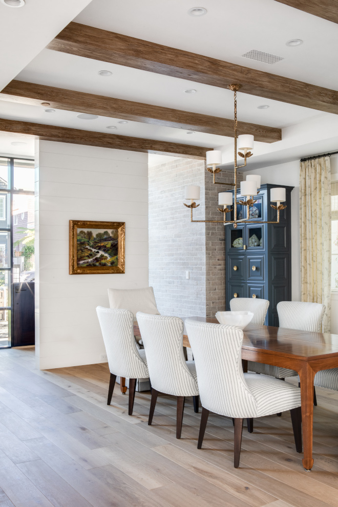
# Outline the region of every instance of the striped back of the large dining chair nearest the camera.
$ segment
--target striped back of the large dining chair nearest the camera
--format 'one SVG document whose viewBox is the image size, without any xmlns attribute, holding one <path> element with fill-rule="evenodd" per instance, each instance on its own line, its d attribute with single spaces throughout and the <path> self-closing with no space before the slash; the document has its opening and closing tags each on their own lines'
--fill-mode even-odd
<svg viewBox="0 0 338 507">
<path fill-rule="evenodd" d="M 254 417 L 257 402 L 243 375 L 243 331 L 187 319 L 202 407 L 229 417 Z M 252 414 L 252 415 L 248 415 Z"/>
</svg>

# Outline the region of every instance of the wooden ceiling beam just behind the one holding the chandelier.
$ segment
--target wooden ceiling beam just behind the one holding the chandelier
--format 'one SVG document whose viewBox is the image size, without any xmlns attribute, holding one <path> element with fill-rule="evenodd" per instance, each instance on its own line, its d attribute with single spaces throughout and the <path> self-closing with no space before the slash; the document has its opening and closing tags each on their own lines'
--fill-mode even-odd
<svg viewBox="0 0 338 507">
<path fill-rule="evenodd" d="M 11 81 L 0 93 L 0 99 L 30 105 L 48 102 L 49 107 L 153 123 L 219 136 L 234 136 L 234 120 L 208 116 L 158 105 L 131 102 L 102 95 L 65 90 L 24 81 Z M 251 134 L 256 141 L 275 142 L 282 139 L 281 129 L 239 121 L 238 134 Z"/>
</svg>

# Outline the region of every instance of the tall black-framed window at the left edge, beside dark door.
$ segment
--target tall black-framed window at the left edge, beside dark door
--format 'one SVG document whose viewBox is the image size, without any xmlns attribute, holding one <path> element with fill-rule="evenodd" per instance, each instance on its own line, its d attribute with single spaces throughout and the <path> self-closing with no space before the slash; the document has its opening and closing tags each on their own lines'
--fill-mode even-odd
<svg viewBox="0 0 338 507">
<path fill-rule="evenodd" d="M 13 283 L 33 281 L 34 161 L 0 157 L 0 348 L 13 342 Z"/>
</svg>

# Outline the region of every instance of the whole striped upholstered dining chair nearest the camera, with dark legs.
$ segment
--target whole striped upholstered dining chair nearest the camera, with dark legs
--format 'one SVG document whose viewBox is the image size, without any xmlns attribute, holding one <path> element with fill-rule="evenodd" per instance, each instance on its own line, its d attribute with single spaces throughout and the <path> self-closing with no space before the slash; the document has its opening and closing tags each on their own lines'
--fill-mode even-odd
<svg viewBox="0 0 338 507">
<path fill-rule="evenodd" d="M 276 378 L 243 373 L 241 329 L 193 319 L 187 319 L 185 327 L 195 357 L 202 405 L 197 448 L 202 447 L 209 412 L 233 417 L 234 466 L 238 468 L 243 418 L 290 410 L 296 450 L 302 452 L 300 389 Z"/>
</svg>

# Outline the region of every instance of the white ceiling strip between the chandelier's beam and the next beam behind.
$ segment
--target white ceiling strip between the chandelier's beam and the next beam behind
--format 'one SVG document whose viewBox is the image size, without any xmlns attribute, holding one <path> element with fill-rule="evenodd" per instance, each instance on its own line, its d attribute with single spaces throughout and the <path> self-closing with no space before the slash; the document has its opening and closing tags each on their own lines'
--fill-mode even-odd
<svg viewBox="0 0 338 507">
<path fill-rule="evenodd" d="M 113 74 L 99 76 L 100 70 Z M 34 58 L 17 79 L 223 118 L 234 116 L 234 94 L 230 90 L 48 49 Z M 196 93 L 184 93 L 189 88 Z M 270 107 L 257 109 L 261 104 Z M 238 93 L 241 121 L 282 128 L 321 114 L 325 113 Z"/>
</svg>

